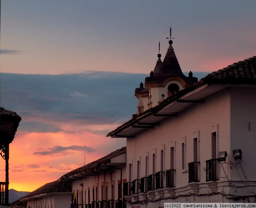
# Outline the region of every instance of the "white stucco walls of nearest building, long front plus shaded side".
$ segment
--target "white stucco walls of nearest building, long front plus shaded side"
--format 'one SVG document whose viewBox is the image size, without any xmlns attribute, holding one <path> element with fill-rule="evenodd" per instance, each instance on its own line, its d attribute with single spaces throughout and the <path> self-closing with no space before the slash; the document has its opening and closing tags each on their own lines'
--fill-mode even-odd
<svg viewBox="0 0 256 208">
<path fill-rule="evenodd" d="M 137 161 L 140 175 L 153 173 L 152 155 L 155 154 L 155 171 L 161 170 L 161 150 L 164 153 L 163 170 L 170 169 L 170 148 L 174 147 L 174 188 L 163 188 L 143 194 L 128 196 L 128 208 L 161 207 L 164 202 L 234 202 L 235 196 L 248 196 L 254 202 L 256 193 L 256 89 L 228 87 L 196 103 L 178 117 L 170 117 L 146 129 L 135 138 L 127 139 L 127 175 L 132 164 L 131 180 L 137 178 Z M 206 181 L 206 160 L 212 159 L 212 133 L 216 132 L 216 157 L 226 151 L 226 162 L 217 162 L 218 180 Z M 197 138 L 198 180 L 188 182 L 188 162 L 194 161 L 193 140 Z M 182 143 L 184 163 L 182 169 Z M 232 150 L 242 150 L 242 160 L 235 162 Z M 129 177 L 129 176 L 128 176 Z M 164 178 L 165 187 L 166 178 Z M 167 199 L 164 199 L 167 198 Z M 169 200 L 168 200 L 169 198 Z M 244 202 L 244 198 L 236 198 Z M 140 203 L 146 201 L 146 203 Z"/>
</svg>

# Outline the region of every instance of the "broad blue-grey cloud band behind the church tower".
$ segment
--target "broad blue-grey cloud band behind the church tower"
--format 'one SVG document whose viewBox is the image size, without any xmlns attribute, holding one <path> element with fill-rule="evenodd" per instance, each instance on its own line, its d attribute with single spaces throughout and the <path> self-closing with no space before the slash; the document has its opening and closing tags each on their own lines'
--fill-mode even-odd
<svg viewBox="0 0 256 208">
<path fill-rule="evenodd" d="M 1 106 L 22 117 L 20 131 L 62 131 L 50 121 L 76 120 L 84 125 L 123 122 L 136 113 L 134 90 L 146 76 L 149 74 L 95 71 L 60 75 L 1 73 Z"/>
</svg>

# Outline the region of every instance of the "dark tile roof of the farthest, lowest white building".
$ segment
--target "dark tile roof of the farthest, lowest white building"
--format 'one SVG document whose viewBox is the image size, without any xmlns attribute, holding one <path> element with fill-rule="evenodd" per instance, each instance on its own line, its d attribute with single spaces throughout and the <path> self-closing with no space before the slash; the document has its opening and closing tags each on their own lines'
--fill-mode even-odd
<svg viewBox="0 0 256 208">
<path fill-rule="evenodd" d="M 72 192 L 72 182 L 71 181 L 60 182 L 60 180 L 56 180 L 54 182 L 44 184 L 43 186 L 34 190 L 33 192 L 26 194 L 25 196 L 20 198 L 20 200 L 37 196 L 40 194 L 54 193 L 54 192 Z"/>
</svg>

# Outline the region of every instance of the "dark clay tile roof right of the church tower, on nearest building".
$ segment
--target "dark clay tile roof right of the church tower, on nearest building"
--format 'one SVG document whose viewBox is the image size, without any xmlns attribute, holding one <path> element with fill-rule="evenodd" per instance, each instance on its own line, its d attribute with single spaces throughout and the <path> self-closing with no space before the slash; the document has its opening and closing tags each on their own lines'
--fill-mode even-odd
<svg viewBox="0 0 256 208">
<path fill-rule="evenodd" d="M 211 83 L 256 83 L 256 56 L 214 71 L 202 80 Z"/>
</svg>

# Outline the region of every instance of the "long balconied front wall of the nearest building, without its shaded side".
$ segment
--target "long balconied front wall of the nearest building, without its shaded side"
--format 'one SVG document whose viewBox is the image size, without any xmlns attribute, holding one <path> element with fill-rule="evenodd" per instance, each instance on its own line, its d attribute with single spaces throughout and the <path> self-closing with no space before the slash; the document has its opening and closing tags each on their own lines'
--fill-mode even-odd
<svg viewBox="0 0 256 208">
<path fill-rule="evenodd" d="M 174 188 L 175 197 L 182 194 L 195 193 L 206 194 L 211 193 L 210 185 L 212 181 L 206 182 L 206 160 L 212 159 L 212 133 L 216 132 L 216 157 L 219 151 L 227 151 L 227 161 L 230 160 L 230 91 L 225 89 L 204 100 L 204 103 L 196 103 L 178 113 L 178 117 L 170 117 L 154 126 L 154 129 L 142 131 L 135 138 L 127 139 L 127 174 L 128 166 L 132 164 L 132 180 L 137 178 L 137 161 L 140 160 L 140 177 L 144 177 L 153 173 L 152 157 L 155 154 L 155 171 L 161 171 L 161 150 L 163 156 L 163 170 L 171 169 L 170 167 L 170 149 L 174 148 Z M 194 162 L 193 141 L 197 138 L 197 154 L 198 154 L 198 180 L 199 182 L 188 182 L 188 163 Z M 184 143 L 184 169 L 182 168 L 182 143 Z M 148 173 L 146 175 L 146 156 L 148 157 Z M 227 164 L 217 163 L 218 166 L 218 182 L 226 182 L 230 178 L 230 166 Z M 226 178 L 226 175 L 228 178 Z M 129 176 L 128 176 L 129 177 Z M 164 178 L 164 187 L 166 178 Z M 194 188 L 194 184 L 197 188 Z M 199 184 L 199 185 L 198 185 Z M 223 185 L 223 187 L 226 184 Z M 202 188 L 198 188 L 202 187 Z M 218 187 L 216 186 L 217 190 Z M 215 191 L 216 191 L 215 190 Z M 227 190 L 228 191 L 228 190 Z M 159 198 L 157 191 L 151 192 L 147 197 L 153 199 Z M 162 197 L 170 197 L 167 190 L 163 190 Z M 139 196 L 140 197 L 140 196 Z M 212 198 L 212 201 L 216 198 Z M 129 197 L 128 197 L 129 201 Z M 132 200 L 136 200 L 132 196 Z M 178 198 L 177 200 L 178 201 Z M 169 201 L 170 202 L 170 201 Z M 149 206 L 149 202 L 147 207 Z M 135 203 L 142 206 L 140 203 Z M 135 204 L 133 206 L 135 206 Z M 153 203 L 163 206 L 163 201 Z M 128 207 L 132 204 L 128 203 Z M 149 206 L 150 207 L 150 206 Z"/>
</svg>

